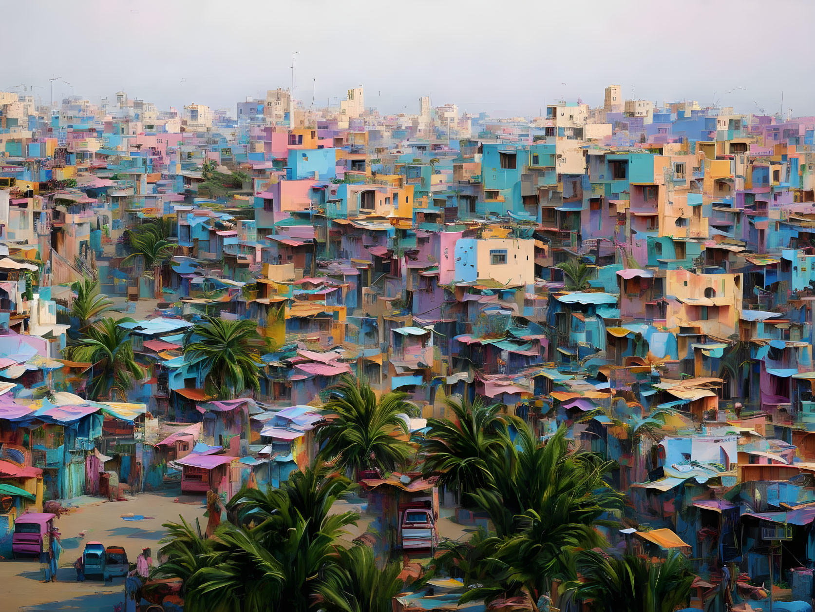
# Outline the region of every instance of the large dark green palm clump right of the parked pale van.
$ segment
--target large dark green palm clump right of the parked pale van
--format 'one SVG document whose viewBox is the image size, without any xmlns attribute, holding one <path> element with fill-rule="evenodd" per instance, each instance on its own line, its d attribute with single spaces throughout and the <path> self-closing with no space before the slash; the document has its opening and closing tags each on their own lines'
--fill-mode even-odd
<svg viewBox="0 0 815 612">
<path fill-rule="evenodd" d="M 439 454 L 438 459 L 430 461 L 453 472 L 448 481 L 467 481 L 466 474 L 468 486 L 479 487 L 469 494 L 471 502 L 495 530 L 446 553 L 447 561 L 465 560 L 460 571 L 480 585 L 461 601 L 522 593 L 536 601 L 551 580 L 569 575 L 572 551 L 604 545 L 594 527 L 610 524 L 604 515 L 623 504 L 623 494 L 606 481 L 615 463 L 571 450 L 565 426 L 544 442 L 524 422 L 513 420 L 516 434 L 510 441 L 504 429 L 509 424 L 495 423 L 490 408 L 471 407 L 468 414 L 461 406 L 455 412 L 458 425 L 433 425 L 444 434 L 437 434 L 441 440 L 433 443 L 430 457 Z M 456 429 L 465 441 L 454 445 L 447 439 Z M 476 450 L 474 444 L 488 450 Z M 431 571 L 447 561 L 434 562 Z"/>
</svg>

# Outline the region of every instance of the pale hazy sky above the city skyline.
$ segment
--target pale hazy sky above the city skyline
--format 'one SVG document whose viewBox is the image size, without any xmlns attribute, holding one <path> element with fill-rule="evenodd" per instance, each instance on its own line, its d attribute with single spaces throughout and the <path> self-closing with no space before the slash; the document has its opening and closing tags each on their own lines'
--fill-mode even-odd
<svg viewBox="0 0 815 612">
<path fill-rule="evenodd" d="M 321 106 L 363 84 L 365 105 L 385 113 L 416 113 L 432 95 L 532 115 L 562 97 L 602 104 L 613 83 L 746 113 L 780 111 L 783 91 L 785 112 L 815 114 L 811 0 L 0 0 L 0 11 L 0 89 L 39 85 L 44 101 L 61 77 L 55 100 L 124 87 L 161 109 L 235 113 L 290 86 L 297 51 L 296 98 L 311 104 L 314 86 Z"/>
</svg>

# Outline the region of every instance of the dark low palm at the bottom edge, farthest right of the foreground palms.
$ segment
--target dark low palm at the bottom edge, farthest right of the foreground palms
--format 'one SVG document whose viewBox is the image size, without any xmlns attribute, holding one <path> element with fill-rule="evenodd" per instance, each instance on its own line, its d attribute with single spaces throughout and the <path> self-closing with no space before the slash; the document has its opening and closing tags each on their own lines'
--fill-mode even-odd
<svg viewBox="0 0 815 612">
<path fill-rule="evenodd" d="M 687 604 L 694 582 L 688 560 L 677 551 L 651 560 L 588 550 L 577 557 L 577 569 L 583 580 L 564 587 L 605 612 L 673 612 Z"/>
</svg>

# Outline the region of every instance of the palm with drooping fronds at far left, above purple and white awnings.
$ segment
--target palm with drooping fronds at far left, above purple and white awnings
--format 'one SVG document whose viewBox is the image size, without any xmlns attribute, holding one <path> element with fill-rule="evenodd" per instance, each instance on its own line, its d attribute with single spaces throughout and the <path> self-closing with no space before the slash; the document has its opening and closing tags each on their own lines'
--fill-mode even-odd
<svg viewBox="0 0 815 612">
<path fill-rule="evenodd" d="M 90 379 L 90 396 L 94 399 L 108 397 L 110 393 L 124 399 L 134 381 L 146 375 L 135 361 L 130 330 L 119 325 L 130 321 L 132 319 L 101 319 L 88 328 L 84 338 L 67 349 L 73 361 L 94 364 Z"/>
</svg>

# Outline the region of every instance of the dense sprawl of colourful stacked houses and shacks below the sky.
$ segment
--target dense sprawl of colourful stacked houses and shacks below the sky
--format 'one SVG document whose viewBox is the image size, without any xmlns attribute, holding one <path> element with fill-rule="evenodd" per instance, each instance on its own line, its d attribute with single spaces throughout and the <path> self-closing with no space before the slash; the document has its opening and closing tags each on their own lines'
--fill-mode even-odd
<svg viewBox="0 0 815 612">
<path fill-rule="evenodd" d="M 350 373 L 406 392 L 416 431 L 455 393 L 541 437 L 568 424 L 619 463 L 631 525 L 671 530 L 657 545 L 707 579 L 812 567 L 815 118 L 619 86 L 531 119 L 363 96 L 168 112 L 0 93 L 0 533 L 116 481 L 275 485 Z M 123 263 L 156 219 L 174 254 Z M 156 306 L 122 323 L 148 371 L 126 401 L 85 399 L 93 365 L 61 353 L 83 277 Z M 202 316 L 257 322 L 259 392 L 207 397 L 182 351 Z M 793 535 L 773 557 L 770 528 Z"/>
</svg>

